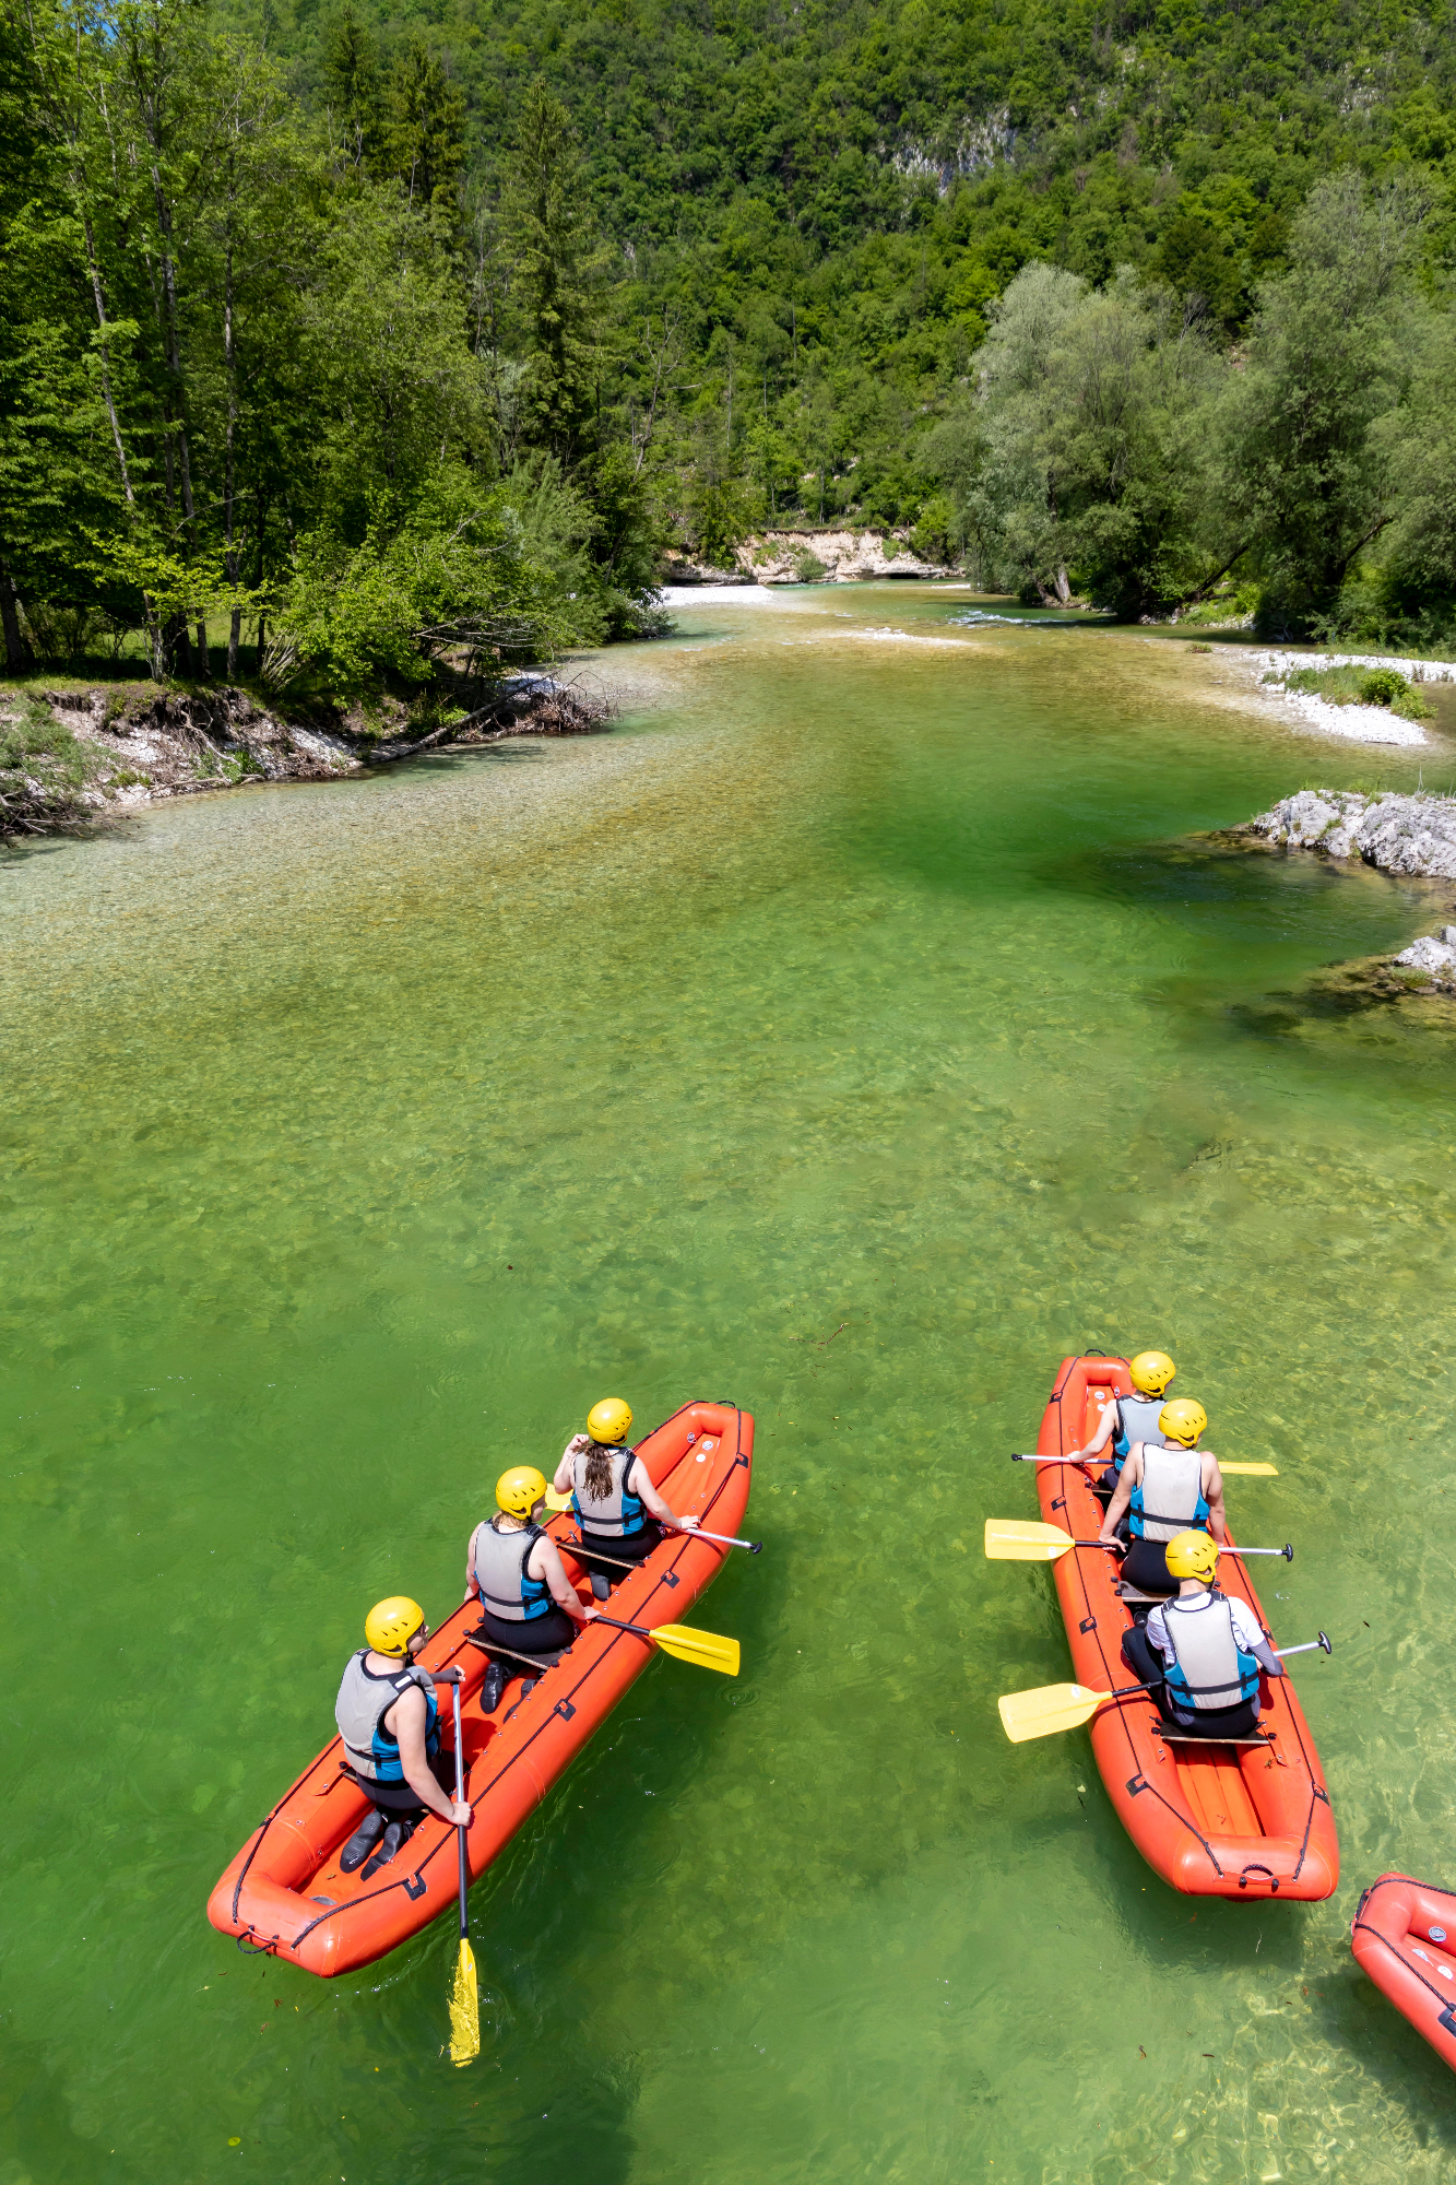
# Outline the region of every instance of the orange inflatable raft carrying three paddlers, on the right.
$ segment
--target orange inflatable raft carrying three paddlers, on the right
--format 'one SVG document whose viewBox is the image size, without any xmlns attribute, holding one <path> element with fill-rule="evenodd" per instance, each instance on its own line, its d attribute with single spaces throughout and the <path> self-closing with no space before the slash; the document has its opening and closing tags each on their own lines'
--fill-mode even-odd
<svg viewBox="0 0 1456 2185">
<path fill-rule="evenodd" d="M 1130 1396 L 1124 1359 L 1062 1359 L 1047 1403 L 1038 1455 L 1082 1449 L 1113 1396 Z M 1108 1444 L 1111 1457 L 1111 1444 Z M 1080 1464 L 1038 1464 L 1041 1514 L 1076 1540 L 1095 1540 L 1102 1503 Z M 1119 1564 L 1102 1547 L 1078 1547 L 1054 1564 L 1078 1685 L 1113 1691 L 1135 1682 L 1122 1658 L 1132 1610 L 1119 1595 Z M 1233 1538 L 1218 1582 L 1248 1602 L 1268 1630 Z M 1163 1881 L 1185 1897 L 1318 1901 L 1340 1879 L 1334 1811 L 1294 1682 L 1261 1678 L 1264 1744 L 1216 1744 L 1165 1735 L 1154 1700 L 1137 1693 L 1100 1706 L 1093 1757 L 1122 1822 Z"/>
</svg>

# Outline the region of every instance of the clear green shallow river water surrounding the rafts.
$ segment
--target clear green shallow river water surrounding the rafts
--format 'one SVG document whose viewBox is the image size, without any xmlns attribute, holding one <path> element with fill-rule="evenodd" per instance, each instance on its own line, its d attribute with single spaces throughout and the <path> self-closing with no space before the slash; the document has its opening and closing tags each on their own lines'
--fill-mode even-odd
<svg viewBox="0 0 1456 2185">
<path fill-rule="evenodd" d="M 697 610 L 610 736 L 2 867 L 0 2185 L 1456 2176 L 1347 1949 L 1456 1877 L 1454 1055 L 1268 1001 L 1436 896 L 1178 848 L 1417 760 L 1137 638 L 859 636 L 951 612 Z M 1006 1451 L 1154 1342 L 1336 1639 L 1327 1905 L 1176 1899 L 997 1726 L 1067 1674 Z M 745 1674 L 656 1663 L 477 1886 L 453 2071 L 444 1927 L 319 1984 L 203 1901 L 367 1604 L 453 1604 L 608 1390 L 756 1412 Z"/>
</svg>

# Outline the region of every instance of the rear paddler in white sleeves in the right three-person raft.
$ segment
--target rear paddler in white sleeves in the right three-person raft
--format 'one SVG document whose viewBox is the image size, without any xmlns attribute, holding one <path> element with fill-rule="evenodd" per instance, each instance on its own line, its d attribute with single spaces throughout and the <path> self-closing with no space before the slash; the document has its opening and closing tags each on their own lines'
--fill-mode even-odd
<svg viewBox="0 0 1456 2185">
<path fill-rule="evenodd" d="M 1167 1543 L 1178 1597 L 1161 1602 L 1148 1628 L 1124 1632 L 1122 1658 L 1154 1687 L 1165 1722 L 1194 1737 L 1248 1737 L 1259 1720 L 1259 1669 L 1283 1676 L 1259 1621 L 1218 1591 L 1218 1545 L 1207 1532 Z"/>
</svg>

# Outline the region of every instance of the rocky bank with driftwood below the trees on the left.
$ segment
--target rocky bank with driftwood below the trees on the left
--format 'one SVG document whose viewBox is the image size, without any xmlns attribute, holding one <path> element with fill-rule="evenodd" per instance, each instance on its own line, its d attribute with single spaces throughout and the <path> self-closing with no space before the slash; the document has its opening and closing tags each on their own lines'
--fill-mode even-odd
<svg viewBox="0 0 1456 2185">
<path fill-rule="evenodd" d="M 428 725 L 400 701 L 376 721 L 341 710 L 300 721 L 247 690 L 153 682 L 0 697 L 0 839 L 79 832 L 160 798 L 334 780 L 428 749 L 592 734 L 610 719 L 606 699 L 542 673 L 512 675 L 483 706 Z M 22 747 L 7 754 L 15 730 Z"/>
</svg>

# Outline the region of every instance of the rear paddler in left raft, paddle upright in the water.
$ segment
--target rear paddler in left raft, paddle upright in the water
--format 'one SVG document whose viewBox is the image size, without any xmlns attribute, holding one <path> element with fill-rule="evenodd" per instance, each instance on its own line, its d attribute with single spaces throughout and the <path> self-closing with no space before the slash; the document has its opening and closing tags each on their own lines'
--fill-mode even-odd
<svg viewBox="0 0 1456 2185">
<path fill-rule="evenodd" d="M 374 1800 L 372 1811 L 343 1846 L 339 1866 L 352 1875 L 365 1866 L 367 1881 L 387 1866 L 400 1844 L 424 1820 L 426 1809 L 453 1827 L 468 1827 L 470 1805 L 455 1800 L 455 1757 L 439 1750 L 439 1711 L 435 1680 L 415 1669 L 415 1654 L 428 1639 L 420 1602 L 396 1593 L 376 1602 L 365 1617 L 365 1641 L 350 1656 L 334 1702 L 334 1722 L 348 1755 L 350 1772 Z"/>
</svg>

